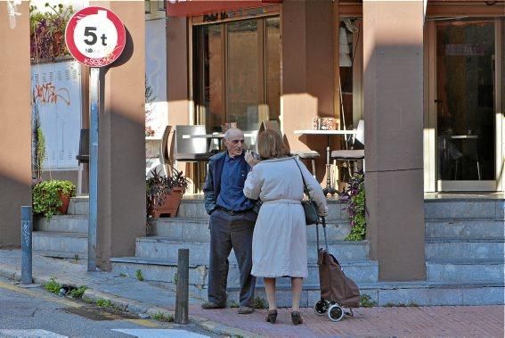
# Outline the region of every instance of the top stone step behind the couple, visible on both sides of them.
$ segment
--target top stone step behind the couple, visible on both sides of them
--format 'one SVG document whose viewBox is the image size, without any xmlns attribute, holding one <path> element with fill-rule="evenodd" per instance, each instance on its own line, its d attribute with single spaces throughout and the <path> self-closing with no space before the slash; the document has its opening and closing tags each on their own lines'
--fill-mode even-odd
<svg viewBox="0 0 505 338">
<path fill-rule="evenodd" d="M 341 202 L 338 198 L 328 198 L 328 221 L 333 221 L 336 219 L 348 219 L 347 212 L 344 210 L 346 208 L 346 203 Z M 205 210 L 203 195 L 201 194 L 186 194 L 181 201 L 179 210 L 177 210 L 177 217 L 181 218 L 206 218 L 208 219 L 208 214 Z"/>
</svg>

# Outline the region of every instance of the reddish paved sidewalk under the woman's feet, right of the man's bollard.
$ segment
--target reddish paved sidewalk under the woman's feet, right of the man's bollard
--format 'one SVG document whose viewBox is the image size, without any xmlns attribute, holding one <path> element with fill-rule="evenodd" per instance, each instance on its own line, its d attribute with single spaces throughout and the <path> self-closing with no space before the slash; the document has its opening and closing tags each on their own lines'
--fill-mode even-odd
<svg viewBox="0 0 505 338">
<path fill-rule="evenodd" d="M 273 325 L 265 322 L 266 310 L 241 316 L 235 309 L 203 310 L 193 306 L 191 313 L 271 337 L 503 337 L 504 334 L 504 308 L 501 306 L 355 309 L 354 317 L 345 317 L 337 323 L 326 316 L 315 315 L 312 309 L 303 309 L 305 323 L 300 326 L 291 324 L 289 309 L 280 309 Z"/>
</svg>

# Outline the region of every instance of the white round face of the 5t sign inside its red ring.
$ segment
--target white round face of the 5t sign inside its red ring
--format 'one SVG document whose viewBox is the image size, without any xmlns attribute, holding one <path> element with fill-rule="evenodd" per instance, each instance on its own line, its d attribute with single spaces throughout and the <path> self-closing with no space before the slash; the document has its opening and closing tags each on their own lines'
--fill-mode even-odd
<svg viewBox="0 0 505 338">
<path fill-rule="evenodd" d="M 110 55 L 118 44 L 118 31 L 106 11 L 88 15 L 77 22 L 74 30 L 77 50 L 90 59 Z"/>
</svg>

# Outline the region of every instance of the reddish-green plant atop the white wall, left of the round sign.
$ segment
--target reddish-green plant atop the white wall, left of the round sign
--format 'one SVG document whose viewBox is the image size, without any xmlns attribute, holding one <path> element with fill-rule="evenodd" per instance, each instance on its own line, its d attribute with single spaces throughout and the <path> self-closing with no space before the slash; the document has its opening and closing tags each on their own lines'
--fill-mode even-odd
<svg viewBox="0 0 505 338">
<path fill-rule="evenodd" d="M 65 28 L 74 13 L 72 6 L 45 4 L 49 12 L 38 12 L 30 6 L 30 57 L 34 62 L 69 55 L 65 45 Z"/>
</svg>

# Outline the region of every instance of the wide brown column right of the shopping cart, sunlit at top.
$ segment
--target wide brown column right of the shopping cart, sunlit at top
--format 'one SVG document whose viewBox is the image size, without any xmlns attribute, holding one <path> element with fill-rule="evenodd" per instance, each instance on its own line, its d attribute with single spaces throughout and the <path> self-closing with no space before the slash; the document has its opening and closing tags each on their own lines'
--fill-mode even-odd
<svg viewBox="0 0 505 338">
<path fill-rule="evenodd" d="M 423 1 L 363 1 L 365 190 L 379 280 L 426 278 Z"/>
</svg>

